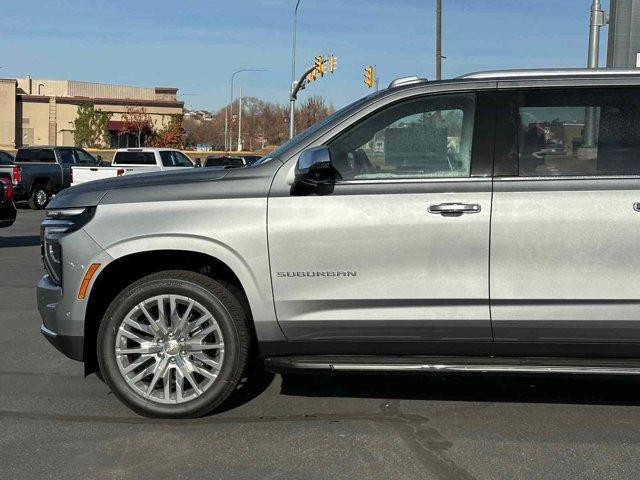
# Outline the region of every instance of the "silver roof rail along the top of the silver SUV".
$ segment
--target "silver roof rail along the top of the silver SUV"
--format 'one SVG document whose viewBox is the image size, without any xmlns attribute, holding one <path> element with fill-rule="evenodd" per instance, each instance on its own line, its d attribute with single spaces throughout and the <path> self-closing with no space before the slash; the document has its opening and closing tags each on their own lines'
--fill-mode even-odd
<svg viewBox="0 0 640 480">
<path fill-rule="evenodd" d="M 638 68 L 540 68 L 515 70 L 487 70 L 472 72 L 456 77 L 464 80 L 546 78 L 546 77 L 601 77 L 640 76 Z"/>
</svg>

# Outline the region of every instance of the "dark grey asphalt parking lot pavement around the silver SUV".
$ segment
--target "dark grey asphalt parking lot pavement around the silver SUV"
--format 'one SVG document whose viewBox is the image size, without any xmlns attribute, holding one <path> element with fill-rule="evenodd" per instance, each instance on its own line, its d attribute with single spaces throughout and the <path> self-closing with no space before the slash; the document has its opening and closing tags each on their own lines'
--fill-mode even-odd
<svg viewBox="0 0 640 480">
<path fill-rule="evenodd" d="M 636 479 L 640 381 L 252 374 L 157 421 L 40 335 L 40 212 L 0 230 L 2 479 Z"/>
</svg>

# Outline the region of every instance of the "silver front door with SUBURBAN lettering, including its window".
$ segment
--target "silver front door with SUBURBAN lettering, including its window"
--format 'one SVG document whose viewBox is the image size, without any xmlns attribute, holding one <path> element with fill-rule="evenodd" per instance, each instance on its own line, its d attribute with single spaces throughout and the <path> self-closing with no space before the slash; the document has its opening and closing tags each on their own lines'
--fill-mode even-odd
<svg viewBox="0 0 640 480">
<path fill-rule="evenodd" d="M 476 111 L 473 94 L 386 107 L 328 143 L 335 183 L 272 194 L 273 293 L 290 340 L 491 341 Z"/>
</svg>

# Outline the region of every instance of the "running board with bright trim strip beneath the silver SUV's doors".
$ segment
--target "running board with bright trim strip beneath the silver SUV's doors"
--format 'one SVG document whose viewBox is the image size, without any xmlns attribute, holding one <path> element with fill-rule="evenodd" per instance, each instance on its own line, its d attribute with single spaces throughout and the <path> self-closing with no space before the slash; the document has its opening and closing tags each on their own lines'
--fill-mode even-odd
<svg viewBox="0 0 640 480">
<path fill-rule="evenodd" d="M 268 357 L 265 359 L 265 368 L 274 373 L 325 371 L 640 375 L 640 359 L 306 355 Z"/>
</svg>

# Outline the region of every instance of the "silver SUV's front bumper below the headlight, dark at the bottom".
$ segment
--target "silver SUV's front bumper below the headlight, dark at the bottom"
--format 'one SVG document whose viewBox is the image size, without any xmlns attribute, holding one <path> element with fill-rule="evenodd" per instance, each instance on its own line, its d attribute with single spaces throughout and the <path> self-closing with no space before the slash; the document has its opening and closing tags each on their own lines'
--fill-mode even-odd
<svg viewBox="0 0 640 480">
<path fill-rule="evenodd" d="M 72 360 L 84 360 L 84 335 L 59 333 L 64 328 L 64 319 L 57 315 L 62 300 L 62 288 L 53 283 L 48 275 L 40 280 L 37 287 L 38 311 L 42 317 L 40 332 L 58 350 Z"/>
</svg>

